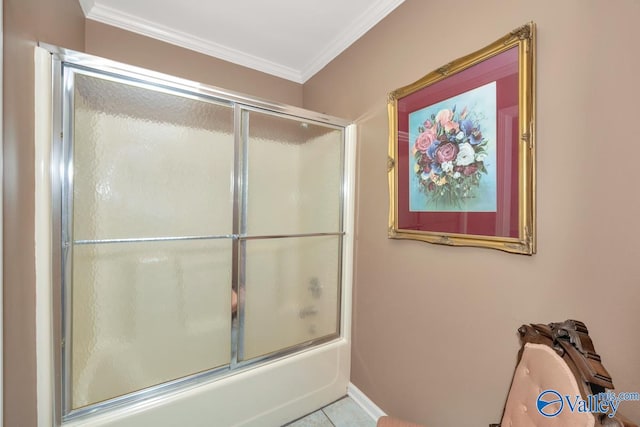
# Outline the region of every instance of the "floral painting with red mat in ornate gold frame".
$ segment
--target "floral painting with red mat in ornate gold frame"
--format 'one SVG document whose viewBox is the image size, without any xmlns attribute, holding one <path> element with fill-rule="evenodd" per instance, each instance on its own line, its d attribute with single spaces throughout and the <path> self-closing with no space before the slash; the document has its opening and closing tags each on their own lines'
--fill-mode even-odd
<svg viewBox="0 0 640 427">
<path fill-rule="evenodd" d="M 389 237 L 535 253 L 534 33 L 389 95 Z"/>
</svg>

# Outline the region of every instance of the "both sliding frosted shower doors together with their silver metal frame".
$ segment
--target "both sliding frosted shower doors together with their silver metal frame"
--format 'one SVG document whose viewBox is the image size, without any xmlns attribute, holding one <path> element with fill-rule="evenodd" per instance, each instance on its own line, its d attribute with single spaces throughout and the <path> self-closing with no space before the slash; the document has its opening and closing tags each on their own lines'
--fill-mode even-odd
<svg viewBox="0 0 640 427">
<path fill-rule="evenodd" d="M 339 336 L 343 126 L 60 74 L 63 418 Z"/>
</svg>

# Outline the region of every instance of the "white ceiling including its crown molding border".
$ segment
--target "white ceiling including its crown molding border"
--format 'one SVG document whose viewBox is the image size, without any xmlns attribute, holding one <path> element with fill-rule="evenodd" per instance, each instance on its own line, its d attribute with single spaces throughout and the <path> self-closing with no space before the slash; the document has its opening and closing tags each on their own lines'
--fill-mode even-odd
<svg viewBox="0 0 640 427">
<path fill-rule="evenodd" d="M 304 83 L 404 0 L 79 0 L 89 19 Z"/>
</svg>

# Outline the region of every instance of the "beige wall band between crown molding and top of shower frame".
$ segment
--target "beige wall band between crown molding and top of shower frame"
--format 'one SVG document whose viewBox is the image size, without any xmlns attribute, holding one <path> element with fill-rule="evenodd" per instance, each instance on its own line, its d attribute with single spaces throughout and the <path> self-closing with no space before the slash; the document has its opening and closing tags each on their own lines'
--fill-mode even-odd
<svg viewBox="0 0 640 427">
<path fill-rule="evenodd" d="M 288 105 L 302 106 L 302 85 L 201 53 L 87 20 L 86 52 Z"/>
</svg>

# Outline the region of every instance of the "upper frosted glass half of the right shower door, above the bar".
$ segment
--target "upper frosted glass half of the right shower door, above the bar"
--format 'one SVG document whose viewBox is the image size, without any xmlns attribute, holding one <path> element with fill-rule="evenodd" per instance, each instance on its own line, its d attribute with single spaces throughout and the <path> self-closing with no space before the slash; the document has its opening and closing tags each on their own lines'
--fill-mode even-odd
<svg viewBox="0 0 640 427">
<path fill-rule="evenodd" d="M 251 113 L 247 234 L 340 231 L 342 131 Z"/>
</svg>

